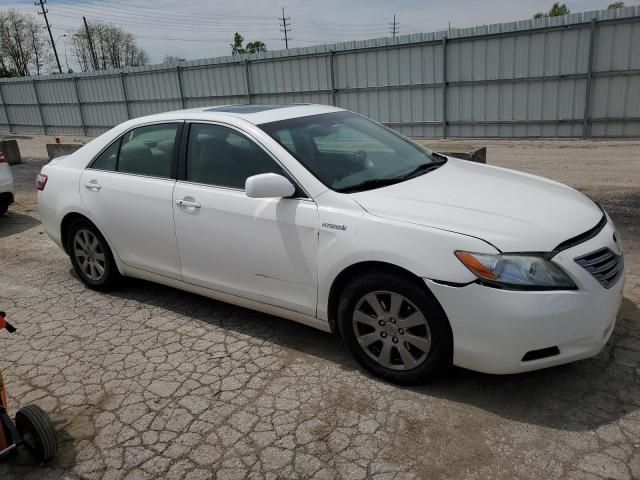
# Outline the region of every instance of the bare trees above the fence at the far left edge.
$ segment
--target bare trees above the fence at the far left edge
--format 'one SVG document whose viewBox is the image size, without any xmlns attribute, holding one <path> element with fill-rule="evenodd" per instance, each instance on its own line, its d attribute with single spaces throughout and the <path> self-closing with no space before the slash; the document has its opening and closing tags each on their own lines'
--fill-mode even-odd
<svg viewBox="0 0 640 480">
<path fill-rule="evenodd" d="M 51 67 L 50 45 L 31 15 L 0 12 L 0 76 L 40 75 Z"/>
</svg>

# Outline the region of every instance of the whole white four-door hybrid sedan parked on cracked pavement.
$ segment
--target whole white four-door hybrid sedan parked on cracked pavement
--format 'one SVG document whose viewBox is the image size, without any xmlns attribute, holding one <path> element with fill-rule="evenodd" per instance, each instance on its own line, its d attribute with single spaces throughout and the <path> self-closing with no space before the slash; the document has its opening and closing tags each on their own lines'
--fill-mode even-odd
<svg viewBox="0 0 640 480">
<path fill-rule="evenodd" d="M 398 383 L 594 356 L 622 298 L 615 227 L 584 195 L 330 106 L 137 118 L 37 188 L 88 287 L 138 277 L 338 332 Z"/>
</svg>

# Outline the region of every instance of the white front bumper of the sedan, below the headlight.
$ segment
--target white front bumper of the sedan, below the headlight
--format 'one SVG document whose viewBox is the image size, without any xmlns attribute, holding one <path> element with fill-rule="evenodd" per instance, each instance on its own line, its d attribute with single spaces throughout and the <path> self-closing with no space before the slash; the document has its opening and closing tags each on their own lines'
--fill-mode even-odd
<svg viewBox="0 0 640 480">
<path fill-rule="evenodd" d="M 453 331 L 453 363 L 486 373 L 518 373 L 597 355 L 613 332 L 624 273 L 606 289 L 575 258 L 602 247 L 619 253 L 609 221 L 594 238 L 558 253 L 553 261 L 577 290 L 500 290 L 475 283 L 452 287 L 426 280 Z M 523 361 L 532 351 L 559 353 Z"/>
</svg>

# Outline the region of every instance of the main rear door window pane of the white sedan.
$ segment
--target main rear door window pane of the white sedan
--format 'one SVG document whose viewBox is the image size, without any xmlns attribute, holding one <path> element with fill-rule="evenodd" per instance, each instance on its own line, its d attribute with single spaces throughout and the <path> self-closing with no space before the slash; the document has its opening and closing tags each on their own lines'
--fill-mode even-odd
<svg viewBox="0 0 640 480">
<path fill-rule="evenodd" d="M 179 124 L 148 125 L 122 137 L 118 172 L 170 178 Z"/>
</svg>

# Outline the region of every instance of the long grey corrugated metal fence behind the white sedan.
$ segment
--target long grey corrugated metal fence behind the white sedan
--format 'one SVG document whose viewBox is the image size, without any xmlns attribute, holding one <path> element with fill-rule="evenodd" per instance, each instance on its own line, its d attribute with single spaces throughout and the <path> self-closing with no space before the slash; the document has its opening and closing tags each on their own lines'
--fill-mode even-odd
<svg viewBox="0 0 640 480">
<path fill-rule="evenodd" d="M 0 130 L 97 135 L 234 103 L 333 104 L 413 137 L 640 136 L 640 7 L 0 80 Z"/>
</svg>

